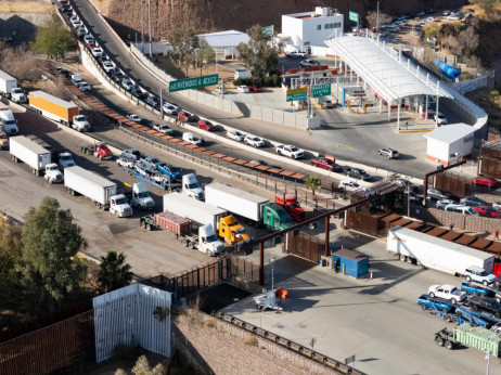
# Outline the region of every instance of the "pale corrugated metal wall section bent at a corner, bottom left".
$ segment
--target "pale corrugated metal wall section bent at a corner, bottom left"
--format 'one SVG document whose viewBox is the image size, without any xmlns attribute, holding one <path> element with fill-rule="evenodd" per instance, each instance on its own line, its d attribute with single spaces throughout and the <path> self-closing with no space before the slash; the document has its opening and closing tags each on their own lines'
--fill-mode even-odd
<svg viewBox="0 0 501 375">
<path fill-rule="evenodd" d="M 93 306 L 98 362 L 113 357 L 118 345 L 170 357 L 170 293 L 133 284 L 95 297 Z M 157 308 L 168 313 L 154 314 Z"/>
</svg>

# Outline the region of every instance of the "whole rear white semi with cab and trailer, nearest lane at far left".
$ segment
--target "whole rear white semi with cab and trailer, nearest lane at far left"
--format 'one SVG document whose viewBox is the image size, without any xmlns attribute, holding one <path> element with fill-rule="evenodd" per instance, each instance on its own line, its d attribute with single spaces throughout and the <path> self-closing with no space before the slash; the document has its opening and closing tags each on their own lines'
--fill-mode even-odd
<svg viewBox="0 0 501 375">
<path fill-rule="evenodd" d="M 9 150 L 12 160 L 23 161 L 31 169 L 31 173 L 44 173 L 44 179 L 49 183 L 63 182 L 63 174 L 57 165 L 52 163 L 50 151 L 38 143 L 23 135 L 11 137 Z"/>
</svg>

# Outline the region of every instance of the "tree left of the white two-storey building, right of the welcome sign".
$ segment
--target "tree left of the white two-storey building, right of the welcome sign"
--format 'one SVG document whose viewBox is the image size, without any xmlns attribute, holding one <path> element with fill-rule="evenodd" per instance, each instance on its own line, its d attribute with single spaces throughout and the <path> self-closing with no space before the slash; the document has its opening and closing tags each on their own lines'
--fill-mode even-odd
<svg viewBox="0 0 501 375">
<path fill-rule="evenodd" d="M 262 78 L 270 70 L 275 70 L 279 64 L 281 43 L 273 43 L 270 37 L 264 37 L 260 25 L 247 29 L 248 43 L 240 43 L 236 50 L 240 59 L 251 67 L 253 76 Z"/>
</svg>

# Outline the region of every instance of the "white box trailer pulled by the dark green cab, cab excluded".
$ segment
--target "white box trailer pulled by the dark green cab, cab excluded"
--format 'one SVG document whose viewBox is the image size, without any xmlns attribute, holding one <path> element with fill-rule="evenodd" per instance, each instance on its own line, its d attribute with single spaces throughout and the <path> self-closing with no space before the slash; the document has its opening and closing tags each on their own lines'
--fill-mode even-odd
<svg viewBox="0 0 501 375">
<path fill-rule="evenodd" d="M 262 196 L 219 182 L 205 186 L 205 202 L 256 222 L 262 221 L 262 207 L 270 204 Z"/>
</svg>

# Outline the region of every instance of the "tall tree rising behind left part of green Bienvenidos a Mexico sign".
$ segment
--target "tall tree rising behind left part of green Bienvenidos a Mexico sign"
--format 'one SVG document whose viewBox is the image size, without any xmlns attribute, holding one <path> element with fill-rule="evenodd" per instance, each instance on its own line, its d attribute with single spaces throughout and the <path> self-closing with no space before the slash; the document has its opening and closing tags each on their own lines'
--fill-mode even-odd
<svg viewBox="0 0 501 375">
<path fill-rule="evenodd" d="M 172 46 L 172 51 L 169 53 L 170 59 L 184 69 L 188 77 L 188 68 L 194 64 L 195 51 L 200 47 L 198 37 L 191 28 L 182 27 L 170 34 L 169 42 Z"/>
</svg>

